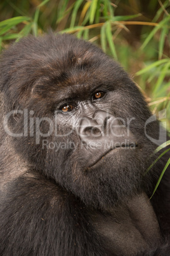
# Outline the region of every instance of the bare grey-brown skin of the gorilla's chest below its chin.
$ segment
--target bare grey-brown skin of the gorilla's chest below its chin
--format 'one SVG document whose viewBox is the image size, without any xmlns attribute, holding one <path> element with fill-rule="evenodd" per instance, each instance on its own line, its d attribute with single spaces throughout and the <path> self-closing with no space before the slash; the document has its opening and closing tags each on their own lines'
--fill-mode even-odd
<svg viewBox="0 0 170 256">
<path fill-rule="evenodd" d="M 143 255 L 160 241 L 157 218 L 144 194 L 105 215 L 92 214 L 91 221 L 108 255 Z"/>
</svg>

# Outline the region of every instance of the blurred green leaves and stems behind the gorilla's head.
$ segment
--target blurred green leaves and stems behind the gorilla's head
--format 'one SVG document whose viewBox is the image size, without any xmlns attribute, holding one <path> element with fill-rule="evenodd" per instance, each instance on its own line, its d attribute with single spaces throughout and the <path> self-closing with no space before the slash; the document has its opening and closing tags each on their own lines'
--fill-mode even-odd
<svg viewBox="0 0 170 256">
<path fill-rule="evenodd" d="M 1 0 L 0 47 L 50 29 L 89 40 L 121 62 L 170 131 L 169 13 L 170 0 Z"/>
</svg>

